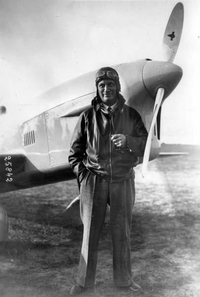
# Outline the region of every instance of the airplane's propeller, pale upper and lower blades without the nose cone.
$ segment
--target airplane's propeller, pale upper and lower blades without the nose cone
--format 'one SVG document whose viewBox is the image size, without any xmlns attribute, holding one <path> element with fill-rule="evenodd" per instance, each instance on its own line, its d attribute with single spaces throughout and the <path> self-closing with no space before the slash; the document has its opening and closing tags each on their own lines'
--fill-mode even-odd
<svg viewBox="0 0 200 297">
<path fill-rule="evenodd" d="M 181 2 L 177 3 L 172 10 L 162 41 L 162 54 L 166 62 L 172 63 L 181 39 L 181 33 L 183 28 L 184 8 Z M 152 137 L 154 132 L 154 126 L 156 124 L 159 108 L 164 96 L 163 86 L 158 86 L 156 100 L 154 104 L 153 118 L 149 129 L 147 143 L 145 147 L 143 164 L 142 164 L 142 176 L 145 177 L 147 172 L 147 166 L 149 162 L 149 156 L 151 151 Z"/>
</svg>

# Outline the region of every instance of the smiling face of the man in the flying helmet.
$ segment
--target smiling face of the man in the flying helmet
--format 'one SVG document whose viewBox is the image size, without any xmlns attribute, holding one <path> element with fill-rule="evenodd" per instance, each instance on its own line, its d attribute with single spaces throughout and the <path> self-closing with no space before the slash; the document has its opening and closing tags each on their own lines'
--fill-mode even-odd
<svg viewBox="0 0 200 297">
<path fill-rule="evenodd" d="M 112 79 L 103 79 L 98 83 L 98 92 L 101 100 L 108 106 L 115 104 L 118 100 L 118 91 Z"/>
</svg>

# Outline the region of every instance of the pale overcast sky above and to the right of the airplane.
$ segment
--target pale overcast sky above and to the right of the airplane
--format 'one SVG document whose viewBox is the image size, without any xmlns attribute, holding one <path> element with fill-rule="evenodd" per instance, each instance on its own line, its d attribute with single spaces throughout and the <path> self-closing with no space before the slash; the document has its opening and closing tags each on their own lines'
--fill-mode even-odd
<svg viewBox="0 0 200 297">
<path fill-rule="evenodd" d="M 177 2 L 0 0 L 0 105 L 18 117 L 18 105 L 80 74 L 141 58 L 160 60 Z M 163 104 L 161 141 L 200 144 L 200 3 L 182 3 L 174 63 L 183 78 Z"/>
</svg>

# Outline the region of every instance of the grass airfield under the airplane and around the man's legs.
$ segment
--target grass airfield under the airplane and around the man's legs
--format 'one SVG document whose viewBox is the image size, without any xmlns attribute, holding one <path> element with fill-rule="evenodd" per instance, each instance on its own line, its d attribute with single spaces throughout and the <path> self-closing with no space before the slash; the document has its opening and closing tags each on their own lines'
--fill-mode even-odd
<svg viewBox="0 0 200 297">
<path fill-rule="evenodd" d="M 131 232 L 140 297 L 200 297 L 200 151 L 157 159 L 145 179 L 136 168 Z M 76 181 L 0 195 L 9 241 L 0 252 L 0 297 L 67 297 L 78 271 L 82 226 L 64 212 Z M 113 285 L 109 222 L 99 244 L 96 293 L 130 297 Z"/>
</svg>

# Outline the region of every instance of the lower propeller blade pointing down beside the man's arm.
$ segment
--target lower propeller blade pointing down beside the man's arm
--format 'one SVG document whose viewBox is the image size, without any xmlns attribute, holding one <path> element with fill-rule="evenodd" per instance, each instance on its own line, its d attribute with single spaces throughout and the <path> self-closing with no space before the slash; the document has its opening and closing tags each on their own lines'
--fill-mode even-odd
<svg viewBox="0 0 200 297">
<path fill-rule="evenodd" d="M 164 89 L 159 88 L 157 95 L 156 95 L 153 118 L 152 118 L 152 122 L 150 125 L 149 134 L 148 134 L 147 143 L 146 143 L 145 152 L 144 152 L 144 157 L 143 157 L 143 164 L 142 164 L 142 176 L 143 177 L 145 177 L 145 174 L 147 172 L 147 166 L 148 166 L 148 162 L 149 162 L 149 155 L 150 155 L 151 144 L 152 144 L 152 137 L 153 137 L 153 133 L 154 133 L 154 126 L 156 124 L 156 119 L 157 119 L 157 115 L 159 112 L 159 108 L 160 108 L 160 104 L 162 102 L 163 96 L 164 96 Z"/>
</svg>

